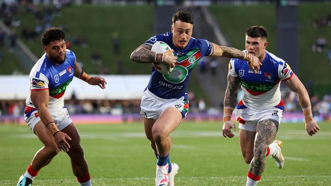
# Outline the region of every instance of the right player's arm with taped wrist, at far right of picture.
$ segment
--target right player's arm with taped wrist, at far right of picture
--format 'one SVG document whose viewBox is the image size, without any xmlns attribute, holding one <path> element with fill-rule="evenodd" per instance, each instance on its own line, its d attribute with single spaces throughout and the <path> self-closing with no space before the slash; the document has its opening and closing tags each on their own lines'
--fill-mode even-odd
<svg viewBox="0 0 331 186">
<path fill-rule="evenodd" d="M 294 74 L 292 78 L 285 81 L 285 84 L 296 94 L 299 98 L 299 103 L 304 111 L 305 122 L 306 122 L 306 131 L 310 136 L 316 134 L 320 129 L 313 119 L 312 107 L 309 99 L 308 92 L 305 86 L 301 83 L 299 78 Z"/>
</svg>

